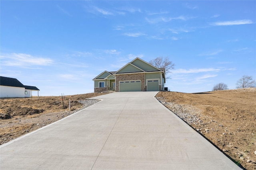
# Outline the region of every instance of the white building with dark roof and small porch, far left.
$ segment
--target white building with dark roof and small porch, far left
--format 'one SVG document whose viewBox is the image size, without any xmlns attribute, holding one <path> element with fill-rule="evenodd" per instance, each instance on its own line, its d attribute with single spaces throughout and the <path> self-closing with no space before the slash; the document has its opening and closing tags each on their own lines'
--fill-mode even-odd
<svg viewBox="0 0 256 170">
<path fill-rule="evenodd" d="M 37 91 L 39 97 L 39 89 L 35 86 L 24 86 L 16 78 L 0 76 L 0 98 L 27 98 L 32 97 L 32 91 Z"/>
</svg>

